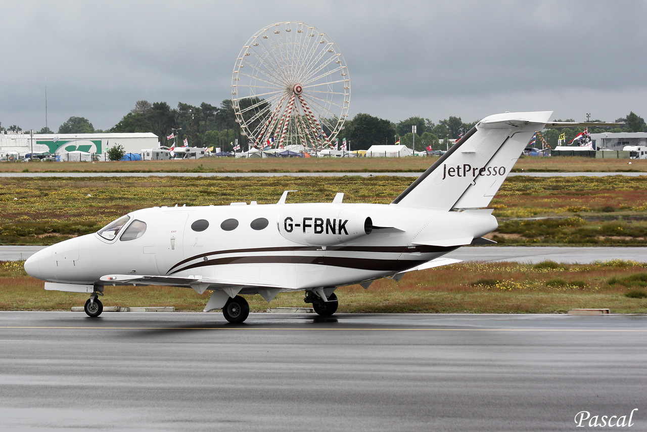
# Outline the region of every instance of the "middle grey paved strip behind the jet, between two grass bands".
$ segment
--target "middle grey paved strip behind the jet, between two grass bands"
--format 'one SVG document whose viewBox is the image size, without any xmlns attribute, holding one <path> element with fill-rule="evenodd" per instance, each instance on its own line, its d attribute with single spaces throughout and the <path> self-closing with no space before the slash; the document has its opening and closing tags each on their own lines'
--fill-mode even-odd
<svg viewBox="0 0 647 432">
<path fill-rule="evenodd" d="M 25 260 L 45 246 L 0 246 L 0 261 Z M 567 264 L 594 261 L 634 260 L 647 262 L 647 247 L 461 247 L 445 255 L 465 261 L 512 261 L 535 264 L 546 260 Z"/>
</svg>

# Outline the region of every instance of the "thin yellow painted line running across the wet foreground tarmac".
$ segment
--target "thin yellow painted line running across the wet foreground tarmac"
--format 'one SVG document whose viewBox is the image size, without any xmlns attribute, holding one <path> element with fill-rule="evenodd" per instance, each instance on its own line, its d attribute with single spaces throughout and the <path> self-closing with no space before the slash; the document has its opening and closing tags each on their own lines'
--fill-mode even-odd
<svg viewBox="0 0 647 432">
<path fill-rule="evenodd" d="M 366 330 L 397 332 L 647 332 L 647 328 L 290 328 L 290 327 L 63 327 L 0 326 L 6 329 L 32 330 Z"/>
</svg>

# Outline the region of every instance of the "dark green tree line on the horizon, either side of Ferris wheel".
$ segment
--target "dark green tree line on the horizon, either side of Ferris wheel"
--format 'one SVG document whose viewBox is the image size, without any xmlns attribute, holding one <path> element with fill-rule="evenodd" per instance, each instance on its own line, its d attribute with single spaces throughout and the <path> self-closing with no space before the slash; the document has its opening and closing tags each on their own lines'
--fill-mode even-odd
<svg viewBox="0 0 647 432">
<path fill-rule="evenodd" d="M 245 100 L 241 100 L 243 104 Z M 252 101 L 255 102 L 255 101 Z M 250 102 L 251 103 L 251 102 Z M 562 121 L 562 120 L 556 120 Z M 564 120 L 574 121 L 574 120 Z M 601 122 L 602 120 L 592 120 Z M 647 132 L 647 124 L 639 115 L 631 111 L 626 117 L 616 119 L 615 122 L 624 122 L 622 128 L 589 128 L 589 133 L 604 132 Z M 446 150 L 450 146 L 450 139 L 459 139 L 477 123 L 465 123 L 461 117 L 450 116 L 448 119 L 435 123 L 424 117 L 409 117 L 400 122 L 380 119 L 367 113 L 358 113 L 351 120 L 344 122 L 344 129 L 337 135 L 341 142 L 343 138 L 350 143 L 351 150 L 366 150 L 374 144 L 400 144 L 413 148 L 412 126 L 416 126 L 415 148 L 424 151 L 431 147 L 433 150 Z M 0 123 L 0 131 L 5 130 Z M 15 124 L 6 128 L 9 131 L 20 131 Z M 571 141 L 584 128 L 551 129 L 543 133 L 547 144 L 554 148 L 558 144 L 558 137 L 565 133 L 566 142 Z M 166 102 L 153 102 L 138 100 L 135 108 L 115 126 L 109 130 L 96 130 L 92 123 L 85 117 L 70 117 L 58 128 L 58 133 L 133 133 L 152 132 L 160 138 L 162 145 L 171 146 L 167 142 L 168 135 L 173 133 L 178 143 L 186 139 L 194 147 L 220 147 L 223 150 L 233 150 L 236 139 L 242 148 L 247 148 L 247 137 L 241 134 L 240 126 L 236 122 L 236 115 L 231 100 L 223 100 L 219 106 L 206 102 L 199 106 L 179 102 L 176 108 L 171 108 Z M 326 131 L 328 134 L 330 131 Z M 54 133 L 49 128 L 42 128 L 37 133 Z"/>
</svg>

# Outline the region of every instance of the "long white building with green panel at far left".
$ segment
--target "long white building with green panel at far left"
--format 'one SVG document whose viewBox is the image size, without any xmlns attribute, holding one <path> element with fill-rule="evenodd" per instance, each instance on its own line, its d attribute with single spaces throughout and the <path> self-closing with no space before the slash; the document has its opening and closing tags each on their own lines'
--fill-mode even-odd
<svg viewBox="0 0 647 432">
<path fill-rule="evenodd" d="M 126 153 L 141 153 L 144 148 L 159 148 L 159 138 L 154 133 L 35 133 L 30 139 L 28 132 L 0 132 L 0 157 L 3 153 L 86 152 L 105 153 L 112 146 L 121 144 Z M 4 154 L 6 155 L 6 154 Z"/>
</svg>

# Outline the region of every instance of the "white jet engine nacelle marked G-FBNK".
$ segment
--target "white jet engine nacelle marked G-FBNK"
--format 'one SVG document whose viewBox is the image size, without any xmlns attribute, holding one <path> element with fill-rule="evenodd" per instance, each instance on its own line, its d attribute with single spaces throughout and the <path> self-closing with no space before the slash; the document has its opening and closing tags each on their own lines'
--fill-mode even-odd
<svg viewBox="0 0 647 432">
<path fill-rule="evenodd" d="M 279 213 L 279 232 L 292 242 L 327 246 L 373 231 L 371 218 L 334 205 L 290 204 Z"/>
</svg>

